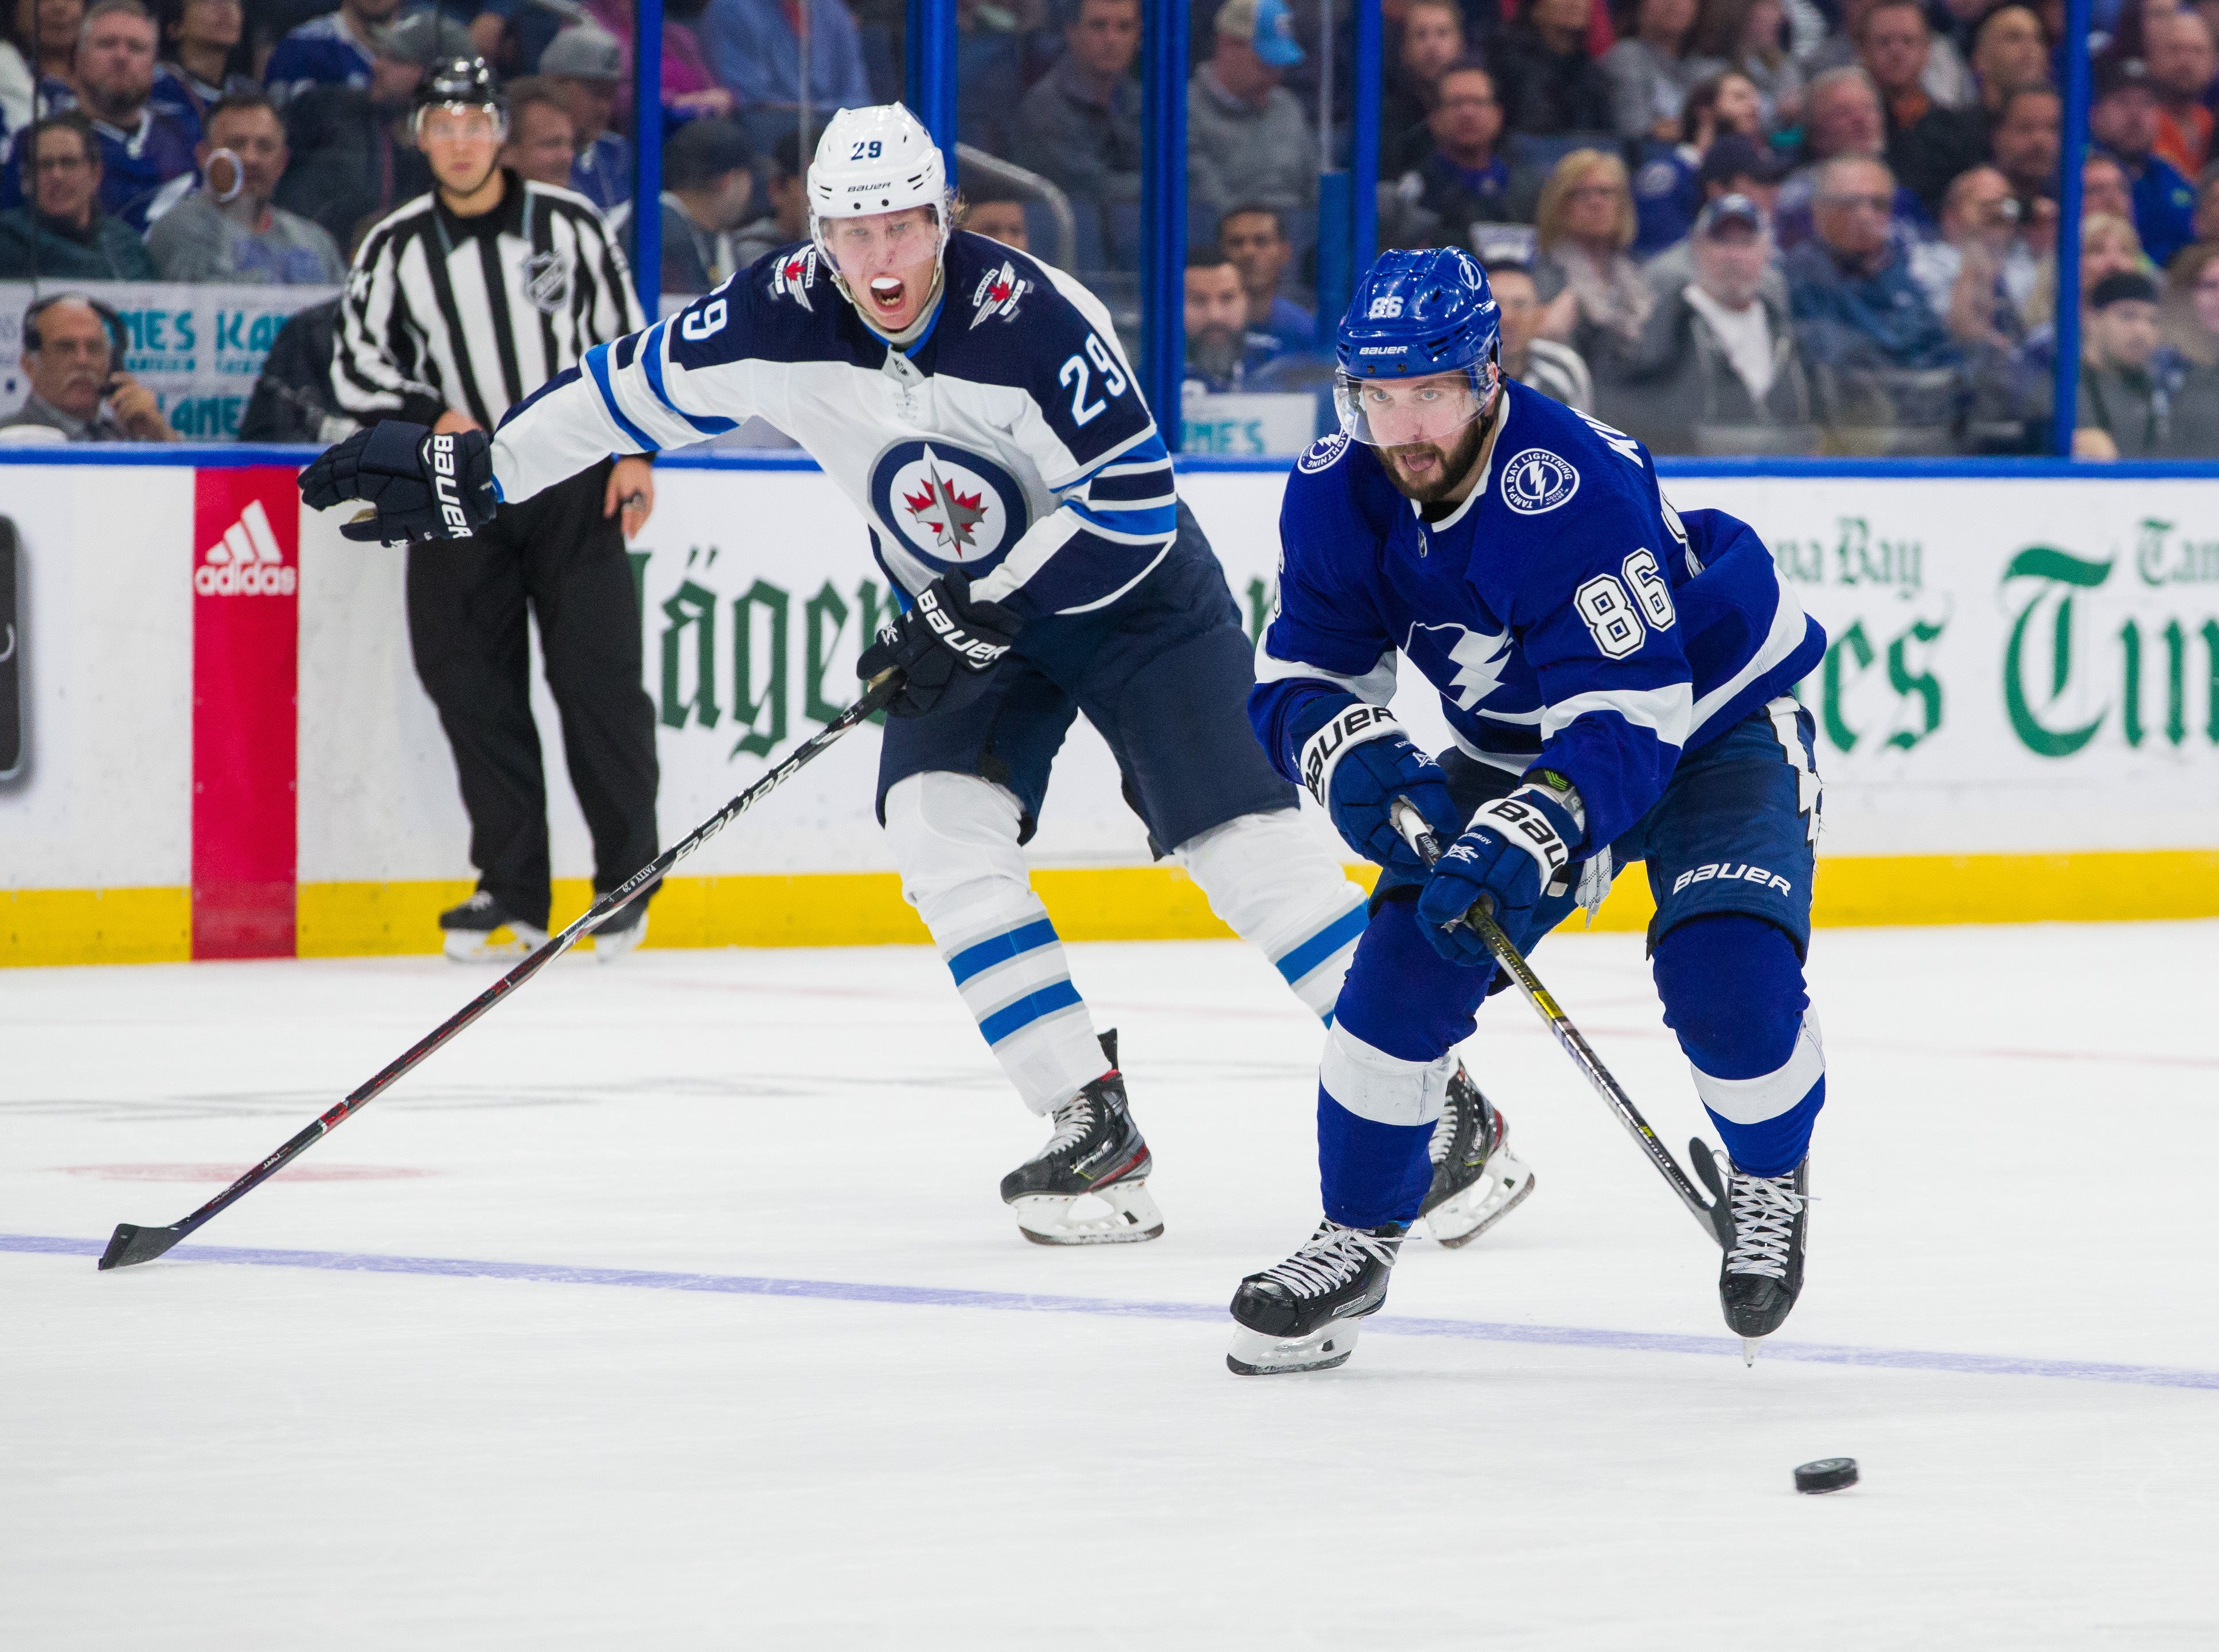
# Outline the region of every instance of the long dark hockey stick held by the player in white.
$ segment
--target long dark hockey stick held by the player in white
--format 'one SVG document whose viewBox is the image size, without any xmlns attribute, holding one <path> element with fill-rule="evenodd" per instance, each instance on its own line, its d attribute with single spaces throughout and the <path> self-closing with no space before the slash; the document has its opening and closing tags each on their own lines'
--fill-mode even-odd
<svg viewBox="0 0 2219 1652">
<path fill-rule="evenodd" d="M 315 1120 L 313 1124 L 308 1124 L 300 1135 L 295 1135 L 291 1142 L 286 1142 L 284 1146 L 280 1146 L 275 1153 L 271 1153 L 266 1160 L 262 1160 L 255 1169 L 251 1169 L 237 1182 L 233 1182 L 222 1193 L 217 1193 L 213 1200 L 209 1200 L 197 1211 L 193 1211 L 193 1215 L 184 1217 L 182 1222 L 173 1222 L 166 1228 L 135 1228 L 129 1222 L 124 1222 L 122 1226 L 118 1226 L 115 1235 L 109 1240 L 109 1248 L 102 1251 L 102 1255 L 100 1255 L 100 1268 L 102 1268 L 102 1273 L 107 1268 L 129 1268 L 129 1266 L 133 1266 L 138 1262 L 153 1262 L 158 1255 L 162 1255 L 173 1244 L 178 1244 L 178 1240 L 182 1240 L 186 1233 L 191 1233 L 193 1228 L 202 1226 L 204 1222 L 222 1215 L 231 1204 L 237 1204 L 242 1197 L 246 1197 L 257 1186 L 262 1186 L 264 1182 L 268 1182 L 273 1175 L 277 1175 L 277 1171 L 282 1171 L 286 1164 L 291 1164 L 302 1153 L 306 1153 L 311 1146 L 315 1146 L 315 1142 L 320 1142 L 324 1135 L 331 1135 L 331 1131 L 340 1129 L 340 1124 L 344 1124 L 348 1118 L 353 1118 L 364 1107 L 368 1107 L 373 1100 L 377 1100 L 377 1095 L 382 1095 L 386 1089 L 391 1089 L 395 1080 L 399 1080 L 404 1073 L 408 1073 L 411 1069 L 415 1069 L 426 1056 L 430 1056 L 435 1049 L 439 1049 L 442 1044 L 446 1044 L 455 1033 L 459 1033 L 464 1027 L 468 1027 L 470 1022 L 475 1022 L 479 1016 L 484 1016 L 488 1009 L 493 1009 L 497 1002 L 501 1002 L 508 993 L 513 993 L 526 980 L 530 980 L 541 969 L 546 969 L 550 962 L 555 962 L 566 951 L 570 951 L 570 947 L 575 947 L 579 942 L 579 938 L 584 938 L 588 931 L 597 929 L 601 922 L 606 922 L 619 909 L 628 907 L 644 889 L 648 889 L 657 878 L 661 878 L 666 871 L 670 871 L 670 867 L 675 867 L 679 860 L 683 860 L 686 856 L 690 856 L 695 849 L 699 849 L 712 836 L 717 836 L 719 832 L 723 832 L 723 827 L 728 827 L 734 818 L 739 818 L 741 814 L 746 814 L 748 809 L 752 809 L 757 803 L 761 803 L 774 789 L 779 789 L 781 785 L 786 785 L 786 781 L 790 781 L 805 763 L 810 763 L 825 747 L 830 747 L 841 734 L 845 734 L 848 730 L 852 730 L 857 723 L 861 723 L 863 718 L 872 716 L 874 712 L 883 710 L 885 703 L 890 698 L 894 698 L 896 692 L 901 692 L 901 674 L 899 672 L 885 672 L 885 674 L 881 674 L 877 681 L 872 681 L 872 685 L 863 694 L 863 698 L 859 698 L 854 705 L 850 705 L 845 712 L 841 712 L 819 734 L 812 734 L 808 741 L 803 741 L 799 747 L 794 747 L 794 754 L 790 758 L 786 758 L 779 767 L 774 767 L 761 781 L 757 781 L 746 792 L 741 792 L 737 798 L 732 798 L 730 803 L 726 803 L 721 809 L 717 809 L 717 814 L 712 814 L 708 820 L 703 820 L 701 825 L 697 825 L 686 838 L 679 838 L 677 843 L 672 843 L 668 849 L 663 849 L 659 856 L 655 856 L 655 860 L 650 860 L 648 865 L 644 865 L 639 871 L 635 871 L 621 885 L 617 885 L 606 896 L 601 896 L 599 900 L 595 900 L 592 907 L 586 911 L 586 916 L 581 916 L 575 922 L 570 922 L 570 927 L 566 927 L 564 931 L 559 931 L 555 936 L 548 936 L 539 945 L 539 949 L 533 951 L 530 958 L 526 958 L 524 962 L 519 962 L 515 969 L 510 969 L 497 982 L 493 982 L 490 987 L 486 987 L 486 991 L 482 991 L 468 1005 L 464 1005 L 453 1016 L 448 1016 L 444 1022 L 439 1022 L 439 1027 L 433 1033 L 428 1033 L 424 1040 L 419 1040 L 417 1044 L 413 1044 L 406 1053 L 393 1058 L 393 1062 L 384 1071 L 379 1071 L 377 1078 L 373 1078 L 368 1084 L 364 1084 L 362 1089 L 357 1089 L 344 1102 L 340 1102 L 337 1107 L 333 1107 L 320 1120 Z"/>
</svg>

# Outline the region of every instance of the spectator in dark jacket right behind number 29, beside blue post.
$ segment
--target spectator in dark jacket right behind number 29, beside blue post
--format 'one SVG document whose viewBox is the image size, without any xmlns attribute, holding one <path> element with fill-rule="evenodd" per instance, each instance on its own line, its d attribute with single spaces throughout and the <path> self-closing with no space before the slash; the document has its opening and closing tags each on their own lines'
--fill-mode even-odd
<svg viewBox="0 0 2219 1652">
<path fill-rule="evenodd" d="M 1078 0 L 1063 55 L 1016 106 L 1012 153 L 1074 202 L 1141 200 L 1141 0 Z"/>
</svg>

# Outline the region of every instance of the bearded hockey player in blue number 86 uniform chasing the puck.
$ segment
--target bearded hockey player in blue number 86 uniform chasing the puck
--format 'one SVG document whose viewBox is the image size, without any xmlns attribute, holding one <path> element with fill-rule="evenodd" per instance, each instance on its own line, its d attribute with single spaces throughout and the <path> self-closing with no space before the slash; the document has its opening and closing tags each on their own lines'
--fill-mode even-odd
<svg viewBox="0 0 2219 1652">
<path fill-rule="evenodd" d="M 1673 512 L 1631 437 L 1509 384 L 1487 275 L 1387 253 L 1338 333 L 1342 432 L 1296 463 L 1249 718 L 1271 763 L 1380 863 L 1318 1069 L 1325 1222 L 1234 1297 L 1245 1375 L 1338 1366 L 1427 1193 L 1453 1049 L 1502 987 L 1460 925 L 1482 896 L 1527 949 L 1646 860 L 1649 951 L 1729 1160 L 1726 1324 L 1762 1337 L 1802 1288 L 1811 1124 L 1804 993 L 1820 783 L 1789 694 L 1826 634 L 1755 532 Z M 1396 654 L 1453 749 L 1396 725 Z M 1409 798 L 1451 843 L 1427 871 Z"/>
</svg>

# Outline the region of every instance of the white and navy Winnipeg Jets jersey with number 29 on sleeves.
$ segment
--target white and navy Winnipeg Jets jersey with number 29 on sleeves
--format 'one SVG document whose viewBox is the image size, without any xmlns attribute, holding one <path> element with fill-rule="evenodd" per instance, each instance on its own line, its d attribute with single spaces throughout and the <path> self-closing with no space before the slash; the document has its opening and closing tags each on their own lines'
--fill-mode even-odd
<svg viewBox="0 0 2219 1652">
<path fill-rule="evenodd" d="M 814 455 L 910 594 L 948 572 L 1025 619 L 1103 608 L 1178 532 L 1163 437 L 1078 282 L 981 235 L 948 242 L 932 322 L 872 333 L 814 246 L 759 259 L 644 333 L 586 353 L 510 412 L 501 499 L 610 452 L 677 448 L 759 415 Z"/>
</svg>

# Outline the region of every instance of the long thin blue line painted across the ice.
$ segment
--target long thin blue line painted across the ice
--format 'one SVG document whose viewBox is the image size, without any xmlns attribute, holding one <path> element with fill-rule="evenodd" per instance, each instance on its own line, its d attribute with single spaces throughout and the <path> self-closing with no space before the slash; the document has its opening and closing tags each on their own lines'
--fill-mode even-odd
<svg viewBox="0 0 2219 1652">
<path fill-rule="evenodd" d="M 100 1240 L 0 1233 L 0 1251 L 98 1257 Z M 923 1284 L 857 1284 L 850 1279 L 766 1279 L 746 1273 L 661 1273 L 650 1268 L 573 1268 L 555 1262 L 466 1262 L 462 1257 L 384 1257 L 357 1251 L 249 1251 L 231 1244 L 180 1244 L 178 1262 L 233 1262 L 251 1268 L 326 1268 L 331 1273 L 428 1273 L 446 1279 L 528 1279 L 535 1284 L 610 1284 L 630 1291 L 710 1291 L 739 1297 L 805 1297 L 812 1302 L 888 1302 L 905 1308 L 999 1308 L 1003 1313 L 1096 1313 L 1116 1319 L 1198 1319 L 1223 1324 L 1225 1308 L 1196 1302 L 1116 1302 L 1019 1291 L 959 1291 Z M 146 1266 L 146 1264 L 142 1264 Z M 1740 1355 L 1737 1337 L 1680 1337 L 1660 1330 L 1589 1330 L 1582 1326 L 1513 1326 L 1487 1319 L 1405 1319 L 1380 1315 L 1371 1335 L 1527 1342 L 1551 1348 L 1615 1353 Z M 2219 1370 L 2179 1366 L 2110 1366 L 2095 1359 L 2017 1359 L 1924 1348 L 1848 1348 L 1824 1342 L 1766 1342 L 1766 1359 L 1884 1370 L 1955 1370 L 1966 1377 L 2064 1377 L 2126 1381 L 2146 1388 L 2219 1388 Z"/>
</svg>

